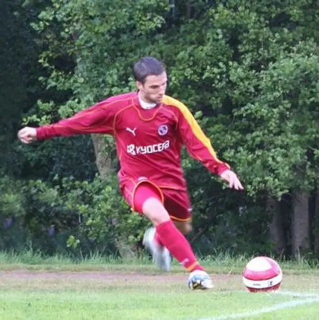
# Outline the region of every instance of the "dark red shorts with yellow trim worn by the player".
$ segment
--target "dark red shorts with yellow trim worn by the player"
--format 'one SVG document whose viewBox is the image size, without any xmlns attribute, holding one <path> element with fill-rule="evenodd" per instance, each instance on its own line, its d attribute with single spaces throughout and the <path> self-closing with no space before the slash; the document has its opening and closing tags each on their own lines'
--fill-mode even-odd
<svg viewBox="0 0 319 320">
<path fill-rule="evenodd" d="M 132 179 L 121 186 L 121 192 L 133 211 L 143 213 L 144 201 L 149 197 L 157 197 L 172 220 L 188 221 L 191 219 L 191 205 L 186 191 L 160 188 L 147 179 L 140 181 Z"/>
</svg>

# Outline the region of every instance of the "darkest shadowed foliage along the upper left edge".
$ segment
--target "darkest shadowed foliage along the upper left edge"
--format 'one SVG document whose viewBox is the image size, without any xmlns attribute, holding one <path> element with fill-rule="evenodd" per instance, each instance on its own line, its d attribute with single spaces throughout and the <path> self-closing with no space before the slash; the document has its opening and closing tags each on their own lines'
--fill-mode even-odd
<svg viewBox="0 0 319 320">
<path fill-rule="evenodd" d="M 36 62 L 36 47 L 32 41 L 27 17 L 19 17 L 19 3 L 0 3 L 0 166 L 8 169 L 12 161 L 12 142 L 21 113 L 34 90 L 34 74 L 25 70 Z M 34 59 L 35 58 L 35 59 Z"/>
</svg>

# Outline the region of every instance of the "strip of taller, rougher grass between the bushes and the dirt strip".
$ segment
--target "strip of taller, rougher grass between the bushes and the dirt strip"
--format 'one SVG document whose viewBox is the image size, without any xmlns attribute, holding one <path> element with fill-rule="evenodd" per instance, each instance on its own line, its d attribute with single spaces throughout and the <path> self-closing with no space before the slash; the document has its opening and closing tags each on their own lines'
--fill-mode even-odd
<svg viewBox="0 0 319 320">
<path fill-rule="evenodd" d="M 213 273 L 231 273 L 240 274 L 247 262 L 253 257 L 237 256 L 232 257 L 227 254 L 218 254 L 215 256 L 206 256 L 204 259 L 199 259 L 200 263 Z M 299 261 L 278 261 L 284 271 L 288 274 L 299 273 L 318 273 L 318 262 L 309 262 L 305 259 Z M 0 270 L 14 269 L 28 270 L 142 270 L 154 271 L 156 268 L 150 261 L 149 257 L 141 256 L 134 260 L 123 261 L 119 258 L 105 257 L 99 253 L 93 253 L 90 256 L 74 259 L 61 255 L 46 257 L 39 252 L 34 252 L 32 249 L 15 252 L 0 252 Z M 178 263 L 173 263 L 172 272 L 180 272 L 181 267 Z"/>
</svg>

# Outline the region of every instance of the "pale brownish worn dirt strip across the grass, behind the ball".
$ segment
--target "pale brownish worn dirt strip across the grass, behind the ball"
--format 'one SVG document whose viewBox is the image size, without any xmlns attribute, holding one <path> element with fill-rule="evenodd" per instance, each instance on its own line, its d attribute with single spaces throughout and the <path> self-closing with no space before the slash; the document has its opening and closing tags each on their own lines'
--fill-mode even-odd
<svg viewBox="0 0 319 320">
<path fill-rule="evenodd" d="M 217 291 L 245 290 L 241 275 L 211 274 Z M 0 289 L 106 289 L 106 290 L 169 290 L 185 288 L 188 274 L 142 273 L 137 271 L 0 271 Z M 317 275 L 286 275 L 282 289 L 319 290 Z"/>
</svg>

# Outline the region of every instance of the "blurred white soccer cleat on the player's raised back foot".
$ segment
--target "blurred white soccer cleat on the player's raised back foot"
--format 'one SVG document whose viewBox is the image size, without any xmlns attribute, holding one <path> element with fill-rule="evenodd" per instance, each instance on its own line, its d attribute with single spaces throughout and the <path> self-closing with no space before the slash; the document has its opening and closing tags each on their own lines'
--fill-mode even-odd
<svg viewBox="0 0 319 320">
<path fill-rule="evenodd" d="M 160 269 L 168 271 L 170 269 L 171 262 L 170 254 L 165 247 L 155 241 L 155 232 L 156 230 L 154 227 L 145 231 L 143 245 L 150 251 L 153 261 L 160 267 Z"/>
</svg>

